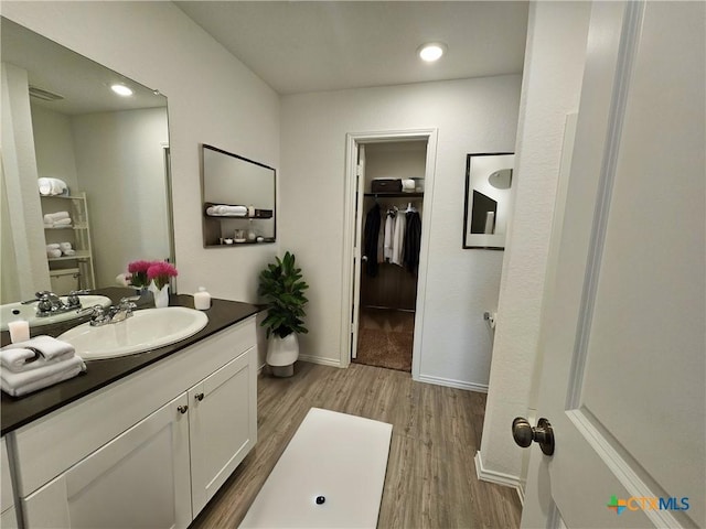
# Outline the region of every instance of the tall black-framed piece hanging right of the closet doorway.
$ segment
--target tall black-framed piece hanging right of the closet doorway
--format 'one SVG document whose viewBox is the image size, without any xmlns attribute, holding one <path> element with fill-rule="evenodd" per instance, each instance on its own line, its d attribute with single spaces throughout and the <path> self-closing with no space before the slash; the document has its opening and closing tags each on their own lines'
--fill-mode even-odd
<svg viewBox="0 0 706 529">
<path fill-rule="evenodd" d="M 514 162 L 512 152 L 467 155 L 463 248 L 505 248 Z"/>
</svg>

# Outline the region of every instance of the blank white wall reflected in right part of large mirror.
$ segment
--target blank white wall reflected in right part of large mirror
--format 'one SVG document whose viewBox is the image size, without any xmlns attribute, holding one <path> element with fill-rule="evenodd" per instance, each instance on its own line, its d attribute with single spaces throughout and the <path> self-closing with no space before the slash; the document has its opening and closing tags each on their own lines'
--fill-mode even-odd
<svg viewBox="0 0 706 529">
<path fill-rule="evenodd" d="M 78 190 L 88 201 L 96 284 L 105 287 L 130 261 L 169 257 L 167 109 L 96 112 L 71 121 Z"/>
</svg>

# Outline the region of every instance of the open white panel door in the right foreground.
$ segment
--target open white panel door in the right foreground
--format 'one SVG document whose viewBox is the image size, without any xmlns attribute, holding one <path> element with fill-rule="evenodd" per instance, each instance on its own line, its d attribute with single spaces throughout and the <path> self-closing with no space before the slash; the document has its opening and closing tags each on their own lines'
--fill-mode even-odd
<svg viewBox="0 0 706 529">
<path fill-rule="evenodd" d="M 524 527 L 706 527 L 705 21 L 593 4 Z"/>
</svg>

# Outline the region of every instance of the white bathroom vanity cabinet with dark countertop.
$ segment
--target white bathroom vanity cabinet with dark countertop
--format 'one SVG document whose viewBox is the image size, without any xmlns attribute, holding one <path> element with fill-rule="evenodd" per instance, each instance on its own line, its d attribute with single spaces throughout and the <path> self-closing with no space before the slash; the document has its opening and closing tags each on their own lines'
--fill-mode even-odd
<svg viewBox="0 0 706 529">
<path fill-rule="evenodd" d="M 26 528 L 188 527 L 257 440 L 258 310 L 214 300 L 208 324 L 178 344 L 3 395 L 9 509 Z M 3 510 L 4 498 L 6 487 Z"/>
</svg>

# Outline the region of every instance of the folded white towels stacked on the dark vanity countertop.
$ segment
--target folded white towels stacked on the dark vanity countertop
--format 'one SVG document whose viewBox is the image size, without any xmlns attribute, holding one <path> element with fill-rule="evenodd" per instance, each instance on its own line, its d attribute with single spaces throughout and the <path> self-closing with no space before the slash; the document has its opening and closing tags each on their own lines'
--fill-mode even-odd
<svg viewBox="0 0 706 529">
<path fill-rule="evenodd" d="M 86 370 L 74 346 L 51 336 L 35 336 L 0 349 L 0 389 L 12 397 L 46 388 Z"/>
</svg>

